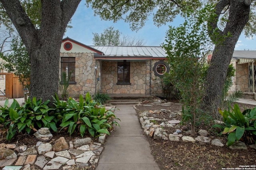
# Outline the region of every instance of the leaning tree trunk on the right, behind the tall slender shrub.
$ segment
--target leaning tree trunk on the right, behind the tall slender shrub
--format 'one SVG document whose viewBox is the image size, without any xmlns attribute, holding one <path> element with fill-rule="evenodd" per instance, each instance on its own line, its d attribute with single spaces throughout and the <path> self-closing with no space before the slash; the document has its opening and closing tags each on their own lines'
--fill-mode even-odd
<svg viewBox="0 0 256 170">
<path fill-rule="evenodd" d="M 220 0 L 215 7 L 217 14 L 215 20 L 208 23 L 208 29 L 211 35 L 212 30 L 218 27 L 217 21 L 221 12 L 225 7 L 229 6 L 229 21 L 224 30 L 219 31 L 219 33 L 220 36 L 225 36 L 230 32 L 232 36 L 224 38 L 221 41 L 222 43 L 220 43 L 220 39 L 216 39 L 216 36 L 211 36 L 211 39 L 216 43 L 206 77 L 207 96 L 204 102 L 208 109 L 211 108 L 217 111 L 216 109 L 220 107 L 228 66 L 232 59 L 236 42 L 249 20 L 250 4 L 250 0 Z"/>
</svg>

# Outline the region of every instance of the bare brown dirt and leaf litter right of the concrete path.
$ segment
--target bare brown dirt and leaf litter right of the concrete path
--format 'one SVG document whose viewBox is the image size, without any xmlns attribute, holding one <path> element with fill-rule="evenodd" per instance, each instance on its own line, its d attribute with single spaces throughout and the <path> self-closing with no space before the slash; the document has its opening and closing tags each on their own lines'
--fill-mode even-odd
<svg viewBox="0 0 256 170">
<path fill-rule="evenodd" d="M 167 109 L 172 112 L 177 112 L 182 110 L 182 106 L 175 104 L 178 101 L 172 101 L 174 104 L 170 106 L 163 105 L 153 105 L 152 107 L 139 105 L 136 106 L 136 112 L 138 115 L 143 113 L 143 111 L 154 111 L 160 109 Z M 254 108 L 253 105 L 240 104 L 238 103 L 241 110 L 244 108 Z M 170 114 L 155 114 L 154 117 L 166 120 L 170 120 Z M 176 117 L 176 119 L 181 119 L 181 117 Z M 159 122 L 160 124 L 161 122 Z M 174 133 L 175 129 L 166 129 L 167 134 Z M 188 125 L 189 129 L 189 125 Z M 216 130 L 207 127 L 202 123 L 196 129 L 207 130 L 210 133 L 210 139 L 222 139 L 224 144 L 226 144 L 227 137 L 225 135 L 218 135 Z M 186 134 L 182 131 L 182 135 Z M 186 135 L 187 136 L 187 135 Z M 217 147 L 211 144 L 202 143 L 185 143 L 182 140 L 179 142 L 165 141 L 165 140 L 155 140 L 148 137 L 148 141 L 151 147 L 151 153 L 154 156 L 155 161 L 158 163 L 161 170 L 221 170 L 221 169 L 235 169 L 244 165 L 255 168 L 256 165 L 256 150 L 247 147 L 247 150 L 232 150 L 228 149 L 225 145 L 224 147 Z M 242 168 L 241 168 L 242 169 Z"/>
</svg>

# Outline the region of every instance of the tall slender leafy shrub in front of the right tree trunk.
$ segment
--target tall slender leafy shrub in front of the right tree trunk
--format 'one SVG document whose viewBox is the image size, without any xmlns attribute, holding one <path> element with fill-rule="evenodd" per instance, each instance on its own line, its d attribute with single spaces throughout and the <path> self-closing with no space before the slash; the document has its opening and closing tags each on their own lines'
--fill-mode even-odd
<svg viewBox="0 0 256 170">
<path fill-rule="evenodd" d="M 171 82 L 180 91 L 181 102 L 184 103 L 182 119 L 190 122 L 192 136 L 200 117 L 198 108 L 205 96 L 204 58 L 212 45 L 205 32 L 211 11 L 212 6 L 207 5 L 191 15 L 194 11 L 187 8 L 183 14 L 184 23 L 176 28 L 170 26 L 163 45 L 170 64 Z"/>
</svg>

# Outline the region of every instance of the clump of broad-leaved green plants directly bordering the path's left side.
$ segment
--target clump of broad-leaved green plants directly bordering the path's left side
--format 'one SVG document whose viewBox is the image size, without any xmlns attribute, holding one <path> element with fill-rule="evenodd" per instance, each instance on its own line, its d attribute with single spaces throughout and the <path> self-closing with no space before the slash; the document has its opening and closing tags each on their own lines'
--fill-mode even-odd
<svg viewBox="0 0 256 170">
<path fill-rule="evenodd" d="M 92 100 L 90 94 L 87 93 L 85 101 L 82 95 L 80 95 L 79 102 L 72 98 L 68 99 L 66 113 L 63 115 L 60 126 L 62 129 L 68 127 L 70 136 L 75 129 L 78 129 L 82 137 L 86 131 L 92 137 L 98 137 L 101 133 L 110 135 L 108 129 L 112 129 L 113 124 L 120 126 L 114 119 L 118 118 L 112 110 L 106 111 L 105 107 L 98 106 L 97 102 Z"/>
</svg>

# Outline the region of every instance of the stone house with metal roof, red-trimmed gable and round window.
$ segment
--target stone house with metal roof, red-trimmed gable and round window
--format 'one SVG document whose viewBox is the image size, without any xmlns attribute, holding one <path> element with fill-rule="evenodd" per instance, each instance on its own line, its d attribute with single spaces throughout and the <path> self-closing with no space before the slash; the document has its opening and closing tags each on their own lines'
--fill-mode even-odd
<svg viewBox="0 0 256 170">
<path fill-rule="evenodd" d="M 88 46 L 62 40 L 60 78 L 70 73 L 69 96 L 162 96 L 159 77 L 170 70 L 162 47 Z"/>
</svg>

